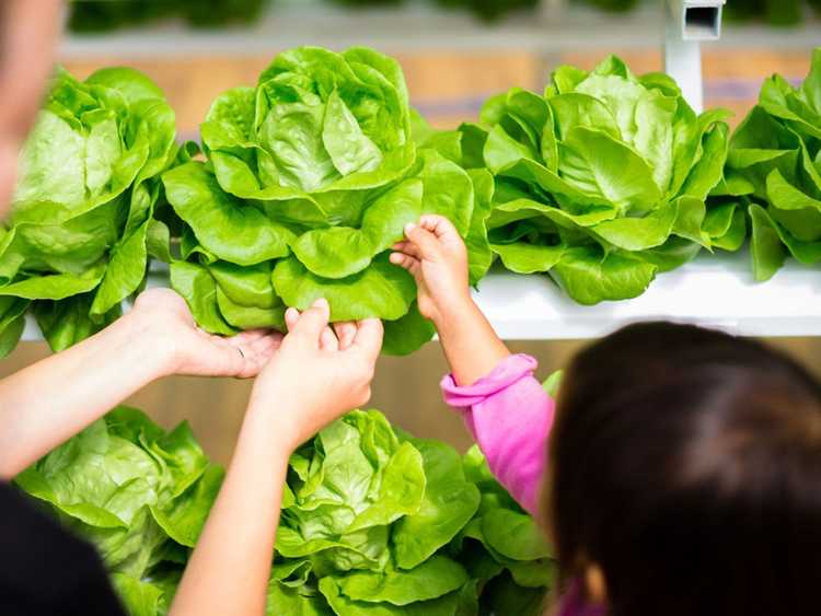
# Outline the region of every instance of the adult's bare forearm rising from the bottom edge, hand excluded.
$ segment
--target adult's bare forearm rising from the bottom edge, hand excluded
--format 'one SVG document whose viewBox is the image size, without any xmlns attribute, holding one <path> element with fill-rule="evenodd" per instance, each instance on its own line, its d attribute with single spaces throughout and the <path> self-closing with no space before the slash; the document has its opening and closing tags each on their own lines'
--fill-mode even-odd
<svg viewBox="0 0 821 616">
<path fill-rule="evenodd" d="M 277 414 L 252 402 L 217 502 L 174 597 L 171 616 L 258 616 L 292 449 Z"/>
</svg>

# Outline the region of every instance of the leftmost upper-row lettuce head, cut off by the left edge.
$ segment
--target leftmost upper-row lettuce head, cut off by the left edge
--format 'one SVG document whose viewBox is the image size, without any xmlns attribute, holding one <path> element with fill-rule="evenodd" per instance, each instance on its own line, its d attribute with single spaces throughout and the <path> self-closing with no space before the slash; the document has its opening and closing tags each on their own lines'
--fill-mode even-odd
<svg viewBox="0 0 821 616">
<path fill-rule="evenodd" d="M 119 314 L 167 247 L 152 212 L 159 174 L 177 153 L 174 112 L 132 69 L 78 81 L 59 70 L 21 153 L 11 217 L 0 229 L 0 352 L 31 310 L 54 350 Z"/>
</svg>

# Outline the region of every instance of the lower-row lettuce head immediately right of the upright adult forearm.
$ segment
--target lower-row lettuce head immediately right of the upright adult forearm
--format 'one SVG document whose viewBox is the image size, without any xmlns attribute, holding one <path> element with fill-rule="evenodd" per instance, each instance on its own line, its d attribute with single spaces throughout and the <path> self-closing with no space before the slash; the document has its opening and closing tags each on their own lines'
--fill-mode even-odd
<svg viewBox="0 0 821 616">
<path fill-rule="evenodd" d="M 275 613 L 455 616 L 475 595 L 449 544 L 481 497 L 452 448 L 354 411 L 291 457 L 288 487 Z"/>
</svg>

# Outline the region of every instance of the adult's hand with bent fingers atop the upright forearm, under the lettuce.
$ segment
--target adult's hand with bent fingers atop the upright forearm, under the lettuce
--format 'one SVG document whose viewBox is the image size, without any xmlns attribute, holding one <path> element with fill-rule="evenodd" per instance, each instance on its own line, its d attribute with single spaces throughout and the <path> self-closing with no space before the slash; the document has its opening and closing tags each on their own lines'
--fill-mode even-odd
<svg viewBox="0 0 821 616">
<path fill-rule="evenodd" d="M 334 334 L 328 317 L 325 300 L 301 315 L 289 309 L 289 333 L 254 384 L 251 407 L 273 414 L 276 430 L 293 449 L 370 399 L 382 322 L 337 323 Z"/>
</svg>

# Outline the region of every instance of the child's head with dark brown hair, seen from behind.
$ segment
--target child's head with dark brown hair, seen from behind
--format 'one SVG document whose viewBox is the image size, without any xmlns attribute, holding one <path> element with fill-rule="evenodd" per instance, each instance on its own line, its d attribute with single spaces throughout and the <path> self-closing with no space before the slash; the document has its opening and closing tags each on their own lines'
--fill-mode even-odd
<svg viewBox="0 0 821 616">
<path fill-rule="evenodd" d="M 571 363 L 551 438 L 563 574 L 602 573 L 611 616 L 818 613 L 821 387 L 796 362 L 631 326 Z"/>
</svg>

